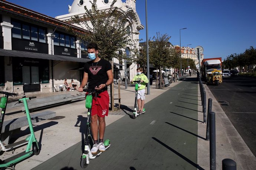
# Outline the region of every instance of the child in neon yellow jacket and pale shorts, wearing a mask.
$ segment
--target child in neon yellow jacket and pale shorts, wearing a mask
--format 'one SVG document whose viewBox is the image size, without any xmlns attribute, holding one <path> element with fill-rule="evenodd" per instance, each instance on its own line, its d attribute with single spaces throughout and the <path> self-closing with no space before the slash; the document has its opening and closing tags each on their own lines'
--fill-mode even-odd
<svg viewBox="0 0 256 170">
<path fill-rule="evenodd" d="M 145 103 L 145 88 L 146 84 L 148 83 L 148 78 L 145 74 L 142 73 L 143 69 L 141 67 L 137 68 L 137 75 L 134 76 L 132 79 L 133 81 L 140 81 L 139 88 L 138 88 L 138 95 L 137 95 L 137 103 L 138 103 L 138 113 L 144 113 L 144 103 Z"/>
</svg>

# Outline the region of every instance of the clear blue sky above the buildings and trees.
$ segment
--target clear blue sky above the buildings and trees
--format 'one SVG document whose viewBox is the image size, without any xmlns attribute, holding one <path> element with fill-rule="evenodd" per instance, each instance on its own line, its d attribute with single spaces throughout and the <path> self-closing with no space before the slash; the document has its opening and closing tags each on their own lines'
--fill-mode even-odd
<svg viewBox="0 0 256 170">
<path fill-rule="evenodd" d="M 73 0 L 7 0 L 50 17 L 68 13 Z M 122 0 L 125 1 L 125 0 Z M 256 0 L 147 0 L 148 36 L 171 36 L 173 45 L 204 48 L 204 58 L 240 54 L 256 47 Z M 145 0 L 136 9 L 146 26 Z M 140 31 L 146 41 L 146 29 Z"/>
</svg>

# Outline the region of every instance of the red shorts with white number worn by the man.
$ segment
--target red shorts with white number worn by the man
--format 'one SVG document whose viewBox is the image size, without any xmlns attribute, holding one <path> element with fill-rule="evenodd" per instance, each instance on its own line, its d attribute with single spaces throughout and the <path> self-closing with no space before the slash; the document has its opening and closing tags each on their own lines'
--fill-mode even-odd
<svg viewBox="0 0 256 170">
<path fill-rule="evenodd" d="M 99 117 L 108 116 L 109 110 L 109 95 L 108 91 L 97 94 L 97 98 L 92 99 L 92 116 L 98 115 Z"/>
</svg>

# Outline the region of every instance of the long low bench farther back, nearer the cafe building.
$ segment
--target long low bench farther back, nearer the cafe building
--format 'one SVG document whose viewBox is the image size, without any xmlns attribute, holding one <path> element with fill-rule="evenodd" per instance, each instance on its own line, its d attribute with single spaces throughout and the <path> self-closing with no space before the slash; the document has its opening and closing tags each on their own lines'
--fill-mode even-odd
<svg viewBox="0 0 256 170">
<path fill-rule="evenodd" d="M 70 93 L 65 93 L 65 94 L 61 94 L 61 95 L 27 100 L 27 104 L 29 107 L 29 111 L 33 112 L 33 110 L 35 110 L 37 108 L 53 106 L 53 105 L 60 104 L 60 103 L 69 103 L 73 100 L 82 99 L 82 98 L 85 98 L 85 94 L 71 95 Z M 7 104 L 7 109 L 14 108 L 14 107 L 22 107 L 22 111 L 25 111 L 23 103 L 12 102 L 12 103 Z"/>
</svg>

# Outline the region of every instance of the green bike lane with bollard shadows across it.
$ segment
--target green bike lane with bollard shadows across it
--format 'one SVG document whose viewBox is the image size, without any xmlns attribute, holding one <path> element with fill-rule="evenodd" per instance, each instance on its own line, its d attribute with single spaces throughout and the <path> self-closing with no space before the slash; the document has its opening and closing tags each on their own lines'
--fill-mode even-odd
<svg viewBox="0 0 256 170">
<path fill-rule="evenodd" d="M 126 115 L 106 126 L 105 139 L 111 147 L 91 159 L 86 169 L 201 169 L 197 166 L 198 94 L 196 82 L 183 81 L 146 103 L 145 114 L 136 119 Z M 81 146 L 82 141 L 34 169 L 82 169 Z"/>
</svg>

